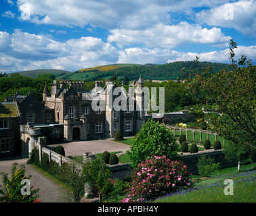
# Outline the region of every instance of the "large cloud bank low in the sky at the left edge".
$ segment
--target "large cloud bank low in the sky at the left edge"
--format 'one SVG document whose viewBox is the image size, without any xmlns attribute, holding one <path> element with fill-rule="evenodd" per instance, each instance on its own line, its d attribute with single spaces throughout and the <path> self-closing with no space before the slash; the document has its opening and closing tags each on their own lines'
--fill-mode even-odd
<svg viewBox="0 0 256 216">
<path fill-rule="evenodd" d="M 45 34 L 0 32 L 0 71 L 56 68 L 79 70 L 118 60 L 118 52 L 100 38 L 81 37 L 64 43 Z M 4 53 L 4 54 L 3 54 Z"/>
</svg>

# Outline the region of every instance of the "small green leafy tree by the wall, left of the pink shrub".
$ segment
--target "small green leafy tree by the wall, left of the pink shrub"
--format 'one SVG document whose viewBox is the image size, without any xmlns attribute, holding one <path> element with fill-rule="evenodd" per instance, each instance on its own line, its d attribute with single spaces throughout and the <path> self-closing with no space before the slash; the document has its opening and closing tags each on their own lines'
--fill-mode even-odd
<svg viewBox="0 0 256 216">
<path fill-rule="evenodd" d="M 93 161 L 88 161 L 83 166 L 83 182 L 97 187 L 101 194 L 106 194 L 111 187 L 108 180 L 110 174 L 110 168 L 101 159 L 96 158 Z"/>
</svg>

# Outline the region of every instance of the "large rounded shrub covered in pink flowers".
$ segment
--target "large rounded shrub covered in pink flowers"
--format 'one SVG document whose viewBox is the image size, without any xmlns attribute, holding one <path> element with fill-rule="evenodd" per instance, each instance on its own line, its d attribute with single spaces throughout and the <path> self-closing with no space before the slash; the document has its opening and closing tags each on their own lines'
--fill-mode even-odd
<svg viewBox="0 0 256 216">
<path fill-rule="evenodd" d="M 137 165 L 131 173 L 132 182 L 123 202 L 152 200 L 176 190 L 190 188 L 190 175 L 182 161 L 170 161 L 165 155 L 152 156 Z"/>
</svg>

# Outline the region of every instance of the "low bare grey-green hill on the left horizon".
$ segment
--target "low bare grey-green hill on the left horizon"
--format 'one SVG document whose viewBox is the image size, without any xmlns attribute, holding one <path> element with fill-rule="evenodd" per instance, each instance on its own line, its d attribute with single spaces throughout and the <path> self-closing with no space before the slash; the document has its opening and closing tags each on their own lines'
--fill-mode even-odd
<svg viewBox="0 0 256 216">
<path fill-rule="evenodd" d="M 22 76 L 28 76 L 30 78 L 36 78 L 38 74 L 53 74 L 54 76 L 64 76 L 64 74 L 70 74 L 72 72 L 69 72 L 67 70 L 57 70 L 57 69 L 39 69 L 39 70 L 26 70 L 23 72 L 17 72 L 18 74 Z M 15 73 L 10 73 L 7 74 L 7 76 L 11 76 L 11 74 Z"/>
</svg>

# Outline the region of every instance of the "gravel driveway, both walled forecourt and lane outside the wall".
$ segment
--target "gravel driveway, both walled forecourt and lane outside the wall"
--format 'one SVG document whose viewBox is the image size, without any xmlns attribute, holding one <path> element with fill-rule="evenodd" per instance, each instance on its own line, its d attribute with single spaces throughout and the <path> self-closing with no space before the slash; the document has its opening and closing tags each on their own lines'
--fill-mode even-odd
<svg viewBox="0 0 256 216">
<path fill-rule="evenodd" d="M 68 142 L 60 144 L 64 146 L 66 155 L 79 156 L 83 153 L 94 152 L 103 153 L 104 151 L 114 152 L 114 151 L 125 151 L 129 150 L 130 146 L 120 142 L 111 141 L 113 138 L 104 140 L 88 140 L 88 141 L 78 141 L 78 142 Z M 57 146 L 59 144 L 52 144 L 49 146 Z M 121 153 L 122 154 L 122 153 Z M 5 159 L 0 159 L 0 172 L 11 173 L 12 164 L 17 162 L 18 167 L 22 164 L 26 167 L 26 175 L 32 175 L 30 178 L 30 185 L 34 189 L 39 188 L 39 198 L 43 202 L 68 202 L 68 195 L 70 194 L 65 188 L 43 175 L 37 169 L 33 168 L 31 165 L 26 164 L 28 159 L 21 159 L 20 157 L 8 157 Z M 2 179 L 0 178 L 0 184 L 2 184 Z"/>
</svg>

